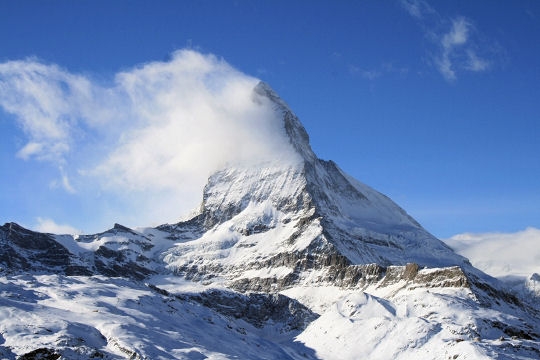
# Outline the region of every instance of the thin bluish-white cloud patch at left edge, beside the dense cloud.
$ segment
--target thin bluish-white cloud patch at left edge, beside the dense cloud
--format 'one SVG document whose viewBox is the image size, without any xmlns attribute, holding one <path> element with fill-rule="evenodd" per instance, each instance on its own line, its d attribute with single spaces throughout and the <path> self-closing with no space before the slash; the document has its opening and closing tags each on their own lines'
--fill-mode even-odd
<svg viewBox="0 0 540 360">
<path fill-rule="evenodd" d="M 24 159 L 62 162 L 73 143 L 73 126 L 84 117 L 88 79 L 34 59 L 0 64 L 0 106 L 28 135 Z"/>
</svg>

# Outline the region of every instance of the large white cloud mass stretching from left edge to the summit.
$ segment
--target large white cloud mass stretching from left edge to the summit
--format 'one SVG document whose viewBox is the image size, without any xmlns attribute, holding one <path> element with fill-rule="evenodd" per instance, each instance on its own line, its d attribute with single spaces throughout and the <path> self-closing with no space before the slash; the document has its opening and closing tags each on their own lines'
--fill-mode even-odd
<svg viewBox="0 0 540 360">
<path fill-rule="evenodd" d="M 97 188 L 113 221 L 148 225 L 196 206 L 226 163 L 297 160 L 271 104 L 253 98 L 258 81 L 191 50 L 109 86 L 30 59 L 0 64 L 0 106 L 28 137 L 18 156 L 58 168 L 53 185 Z"/>
</svg>

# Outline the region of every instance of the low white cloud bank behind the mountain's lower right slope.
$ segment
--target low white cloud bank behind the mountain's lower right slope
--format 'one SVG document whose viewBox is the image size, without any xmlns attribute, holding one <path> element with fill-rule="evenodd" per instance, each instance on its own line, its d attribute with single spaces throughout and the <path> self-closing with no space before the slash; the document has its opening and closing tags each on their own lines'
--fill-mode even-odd
<svg viewBox="0 0 540 360">
<path fill-rule="evenodd" d="M 445 242 L 484 272 L 495 276 L 540 273 L 540 229 L 516 233 L 465 233 Z"/>
</svg>

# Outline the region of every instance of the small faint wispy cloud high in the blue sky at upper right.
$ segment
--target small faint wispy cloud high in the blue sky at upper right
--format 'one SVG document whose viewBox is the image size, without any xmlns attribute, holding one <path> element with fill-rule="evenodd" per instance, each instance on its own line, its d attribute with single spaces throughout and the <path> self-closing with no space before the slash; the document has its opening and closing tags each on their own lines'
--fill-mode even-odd
<svg viewBox="0 0 540 360">
<path fill-rule="evenodd" d="M 480 46 L 472 20 L 463 16 L 444 18 L 424 0 L 402 0 L 401 4 L 434 45 L 431 61 L 447 81 L 455 81 L 459 72 L 483 72 L 491 68 L 488 55 L 491 49 Z"/>
</svg>

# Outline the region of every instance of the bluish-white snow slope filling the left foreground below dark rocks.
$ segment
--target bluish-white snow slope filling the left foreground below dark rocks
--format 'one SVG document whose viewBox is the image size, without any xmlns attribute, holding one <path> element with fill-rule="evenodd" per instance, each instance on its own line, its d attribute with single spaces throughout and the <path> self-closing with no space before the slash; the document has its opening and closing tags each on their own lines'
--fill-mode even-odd
<svg viewBox="0 0 540 360">
<path fill-rule="evenodd" d="M 37 349 L 81 360 L 313 358 L 295 332 L 274 334 L 273 324 L 256 327 L 122 278 L 17 275 L 0 285 L 3 359 Z"/>
</svg>

